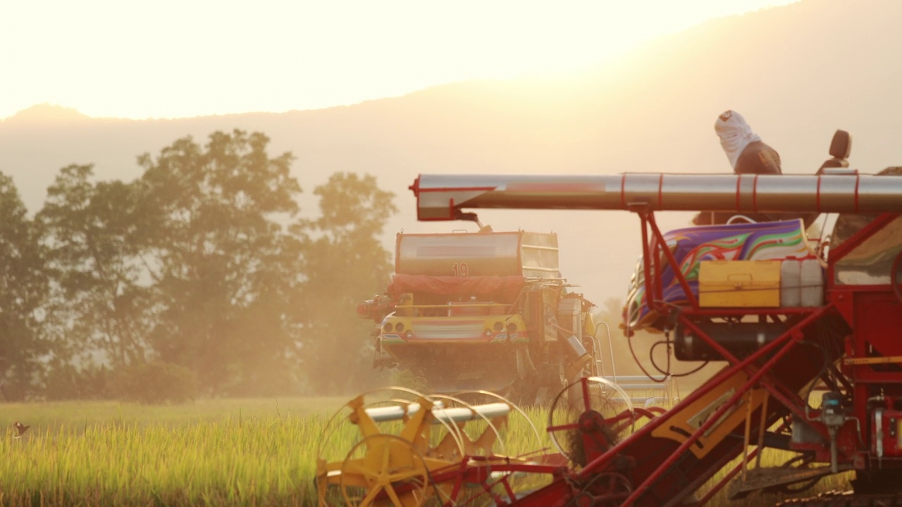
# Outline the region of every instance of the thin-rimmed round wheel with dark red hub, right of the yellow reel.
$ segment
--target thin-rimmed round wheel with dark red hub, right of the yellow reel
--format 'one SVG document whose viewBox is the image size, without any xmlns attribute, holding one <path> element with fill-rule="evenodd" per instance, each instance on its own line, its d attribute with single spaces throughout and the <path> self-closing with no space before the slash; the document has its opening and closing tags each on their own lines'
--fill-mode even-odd
<svg viewBox="0 0 902 507">
<path fill-rule="evenodd" d="M 567 399 L 574 398 L 571 390 L 578 390 L 580 403 L 567 406 Z M 619 396 L 619 397 L 618 397 Z M 582 409 L 577 414 L 576 410 Z M 576 418 L 576 420 L 574 420 Z M 586 377 L 570 383 L 557 393 L 548 410 L 548 435 L 557 452 L 573 463 L 584 461 L 578 446 L 578 435 L 586 431 L 598 431 L 600 437 L 614 440 L 621 435 L 629 435 L 636 426 L 636 412 L 630 396 L 620 386 L 602 377 Z M 564 431 L 570 438 L 561 445 L 559 434 Z M 616 442 L 610 441 L 609 445 Z"/>
</svg>

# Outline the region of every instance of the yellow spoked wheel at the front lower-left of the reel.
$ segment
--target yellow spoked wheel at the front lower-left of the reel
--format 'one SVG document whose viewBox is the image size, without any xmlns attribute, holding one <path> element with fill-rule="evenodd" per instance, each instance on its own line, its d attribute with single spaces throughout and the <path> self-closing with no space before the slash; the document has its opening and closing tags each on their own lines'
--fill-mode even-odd
<svg viewBox="0 0 902 507">
<path fill-rule="evenodd" d="M 429 474 L 419 451 L 407 440 L 386 434 L 357 442 L 341 466 L 341 493 L 347 505 L 419 507 L 427 498 Z"/>
</svg>

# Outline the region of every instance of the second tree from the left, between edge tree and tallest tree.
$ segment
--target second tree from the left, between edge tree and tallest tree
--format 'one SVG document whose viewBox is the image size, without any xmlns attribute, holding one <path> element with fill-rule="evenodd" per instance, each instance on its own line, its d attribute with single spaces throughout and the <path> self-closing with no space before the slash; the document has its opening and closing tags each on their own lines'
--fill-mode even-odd
<svg viewBox="0 0 902 507">
<path fill-rule="evenodd" d="M 113 368 L 143 364 L 152 321 L 147 269 L 137 247 L 134 184 L 92 183 L 93 167 L 60 170 L 36 219 L 52 273 L 55 359 L 97 357 Z"/>
</svg>

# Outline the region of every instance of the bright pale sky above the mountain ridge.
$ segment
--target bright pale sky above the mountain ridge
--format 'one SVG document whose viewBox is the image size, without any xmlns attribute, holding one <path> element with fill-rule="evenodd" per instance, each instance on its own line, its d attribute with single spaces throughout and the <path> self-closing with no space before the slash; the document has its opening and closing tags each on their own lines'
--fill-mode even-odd
<svg viewBox="0 0 902 507">
<path fill-rule="evenodd" d="M 583 69 L 706 19 L 795 0 L 31 0 L 0 17 L 0 118 L 354 104 Z"/>
</svg>

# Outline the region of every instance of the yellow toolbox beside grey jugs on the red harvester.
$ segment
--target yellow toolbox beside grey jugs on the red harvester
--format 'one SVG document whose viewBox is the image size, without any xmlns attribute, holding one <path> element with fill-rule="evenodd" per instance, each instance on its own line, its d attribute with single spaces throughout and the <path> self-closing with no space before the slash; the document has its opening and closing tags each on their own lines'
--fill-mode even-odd
<svg viewBox="0 0 902 507">
<path fill-rule="evenodd" d="M 780 306 L 779 261 L 702 261 L 698 304 L 704 308 Z"/>
</svg>

